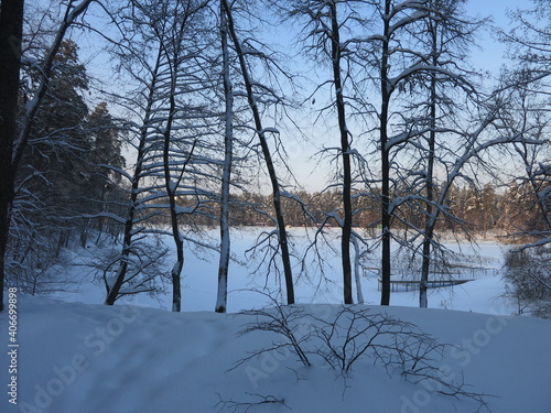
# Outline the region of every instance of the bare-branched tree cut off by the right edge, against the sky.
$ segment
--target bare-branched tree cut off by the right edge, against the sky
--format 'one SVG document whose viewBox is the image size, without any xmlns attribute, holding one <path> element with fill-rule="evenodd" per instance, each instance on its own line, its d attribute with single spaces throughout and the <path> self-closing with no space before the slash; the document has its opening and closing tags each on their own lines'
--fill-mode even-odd
<svg viewBox="0 0 551 413">
<path fill-rule="evenodd" d="M 515 97 L 520 119 L 511 124 L 516 130 L 529 129 L 539 145 L 516 144 L 515 152 L 526 174 L 518 176 L 532 189 L 536 206 L 541 211 L 545 227 L 533 232 L 537 246 L 551 242 L 551 164 L 549 163 L 549 96 L 551 94 L 551 34 L 549 19 L 551 7 L 547 1 L 536 0 L 529 10 L 516 10 L 511 18 L 517 25 L 508 33 L 500 32 L 501 41 L 517 67 L 509 70 L 507 87 L 518 90 Z M 529 247 L 529 246 L 527 246 Z"/>
</svg>

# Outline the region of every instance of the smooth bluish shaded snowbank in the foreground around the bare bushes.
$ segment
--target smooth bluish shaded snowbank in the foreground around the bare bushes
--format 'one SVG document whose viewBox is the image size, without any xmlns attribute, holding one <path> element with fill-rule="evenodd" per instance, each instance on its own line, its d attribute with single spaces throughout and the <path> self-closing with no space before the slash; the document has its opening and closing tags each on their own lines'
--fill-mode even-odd
<svg viewBox="0 0 551 413">
<path fill-rule="evenodd" d="M 366 362 L 347 379 L 293 357 L 266 354 L 226 372 L 247 351 L 269 346 L 269 333 L 238 337 L 247 316 L 173 314 L 137 306 L 55 303 L 20 297 L 18 406 L 2 412 L 216 412 L 223 400 L 251 394 L 283 399 L 298 412 L 473 412 Z M 328 313 L 335 305 L 324 305 Z M 377 306 L 371 307 L 379 311 Z M 306 306 L 320 314 L 321 306 Z M 528 317 L 390 307 L 455 351 L 439 366 L 488 398 L 494 412 L 545 412 L 551 402 L 551 325 Z M 6 315 L 2 315 L 2 322 Z M 6 366 L 6 354 L 2 365 Z M 294 371 L 293 371 L 294 370 Z M 6 369 L 0 376 L 8 383 Z M 298 380 L 300 378 L 300 380 Z M 218 396 L 219 394 L 219 396 Z M 285 411 L 267 406 L 258 411 Z"/>
</svg>

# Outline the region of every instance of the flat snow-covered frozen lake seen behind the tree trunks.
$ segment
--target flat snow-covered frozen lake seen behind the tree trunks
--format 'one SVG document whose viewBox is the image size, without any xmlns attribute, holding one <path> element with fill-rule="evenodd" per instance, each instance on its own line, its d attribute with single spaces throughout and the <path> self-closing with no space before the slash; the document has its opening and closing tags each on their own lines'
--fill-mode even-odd
<svg viewBox="0 0 551 413">
<path fill-rule="evenodd" d="M 259 265 L 260 254 L 257 257 L 247 252 L 255 240 L 266 228 L 236 229 L 233 231 L 231 250 L 235 260 L 230 263 L 228 281 L 228 312 L 262 306 L 267 298 L 251 290 L 269 291 L 276 293 L 280 290 L 280 283 L 273 272 L 268 274 L 266 267 Z M 309 244 L 309 237 L 304 229 L 291 229 L 291 242 L 294 251 L 302 254 Z M 208 230 L 207 237 L 216 242 L 218 232 L 216 229 Z M 169 248 L 172 240 L 164 239 Z M 339 304 L 343 301 L 343 282 L 341 271 L 341 259 L 338 256 L 338 231 L 335 229 L 327 232 L 327 244 L 320 243 L 320 254 L 324 262 L 309 254 L 305 259 L 305 269 L 302 271 L 299 258 L 294 259 L 294 276 L 296 281 L 296 302 L 303 304 L 328 303 Z M 504 247 L 493 241 L 482 241 L 476 246 L 471 243 L 446 243 L 450 250 L 461 252 L 464 257 L 483 262 L 483 267 L 493 271 L 479 271 L 475 273 L 475 281 L 467 282 L 453 287 L 439 287 L 429 291 L 429 307 L 447 308 L 486 314 L 511 314 L 515 308 L 504 300 L 505 285 L 501 282 L 500 269 L 503 262 Z M 332 250 L 331 248 L 335 248 Z M 380 292 L 378 291 L 377 268 L 378 251 L 375 249 L 368 254 L 364 262 L 367 268 L 363 271 L 361 289 L 366 304 L 379 304 Z M 279 262 L 279 261 L 278 261 Z M 216 302 L 217 291 L 217 256 L 213 251 L 192 251 L 186 249 L 186 258 L 182 279 L 182 311 L 212 311 Z M 166 271 L 172 267 L 171 258 L 166 262 Z M 320 268 L 324 269 L 323 276 Z M 480 265 L 482 267 L 482 265 Z M 63 300 L 78 301 L 90 304 L 102 303 L 105 289 L 102 285 L 91 285 L 91 274 L 75 268 L 75 279 L 80 280 L 78 292 L 58 294 Z M 354 283 L 354 297 L 356 301 L 356 283 Z M 391 305 L 419 306 L 418 291 L 395 291 L 391 294 Z M 171 308 L 171 292 L 150 297 L 141 294 L 136 297 L 126 298 L 123 302 L 155 308 Z"/>
</svg>

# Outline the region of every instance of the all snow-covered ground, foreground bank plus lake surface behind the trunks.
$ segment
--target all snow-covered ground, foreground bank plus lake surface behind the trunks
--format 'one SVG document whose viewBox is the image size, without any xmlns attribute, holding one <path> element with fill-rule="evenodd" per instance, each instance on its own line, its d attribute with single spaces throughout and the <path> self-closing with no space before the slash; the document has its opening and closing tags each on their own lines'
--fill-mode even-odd
<svg viewBox="0 0 551 413">
<path fill-rule="evenodd" d="M 241 253 L 250 239 L 250 233 L 238 235 L 234 251 Z M 499 268 L 499 247 L 479 247 L 480 254 L 488 258 L 486 262 Z M 338 259 L 327 257 L 338 274 Z M 80 293 L 65 294 L 64 301 L 18 294 L 19 347 L 8 347 L 12 337 L 8 314 L 0 314 L 0 341 L 4 346 L 0 354 L 0 382 L 4 388 L 0 412 L 205 413 L 245 412 L 249 406 L 248 412 L 476 411 L 472 400 L 439 394 L 430 382 L 407 382 L 398 371 L 389 374 L 369 358 L 359 360 L 346 381 L 321 360 L 305 368 L 295 356 L 276 351 L 227 372 L 248 351 L 268 348 L 278 337 L 269 332 L 239 336 L 237 333 L 253 320 L 252 316 L 212 312 L 215 269 L 216 260 L 208 262 L 188 254 L 181 314 L 152 308 L 170 307 L 169 297 L 159 302 L 138 296 L 112 307 L 91 304 L 101 302 L 102 290 L 90 284 L 84 271 Z M 234 264 L 231 312 L 264 304 L 261 294 L 241 291 L 262 286 L 263 274 L 258 275 Z M 334 317 L 342 293 L 338 276 L 333 281 L 333 291 L 331 286 L 328 291 L 315 291 L 311 283 L 299 283 L 298 301 L 306 313 L 324 319 Z M 274 284 L 270 281 L 269 285 Z M 499 276 L 482 276 L 453 292 L 433 290 L 430 309 L 414 308 L 415 292 L 395 292 L 390 307 L 375 305 L 379 301 L 376 275 L 363 280 L 363 290 L 374 314 L 387 312 L 417 324 L 440 343 L 455 346 L 447 348 L 444 359 L 434 361 L 434 367 L 455 382 L 464 380 L 472 385 L 468 391 L 488 394 L 491 412 L 550 412 L 551 322 L 507 315 L 514 308 L 500 297 L 504 286 Z M 299 323 L 307 325 L 309 320 Z M 11 373 L 10 366 L 17 372 Z M 11 389 L 17 394 L 10 395 Z M 14 394 L 17 405 L 9 402 Z M 270 398 L 285 405 L 247 404 Z"/>
</svg>

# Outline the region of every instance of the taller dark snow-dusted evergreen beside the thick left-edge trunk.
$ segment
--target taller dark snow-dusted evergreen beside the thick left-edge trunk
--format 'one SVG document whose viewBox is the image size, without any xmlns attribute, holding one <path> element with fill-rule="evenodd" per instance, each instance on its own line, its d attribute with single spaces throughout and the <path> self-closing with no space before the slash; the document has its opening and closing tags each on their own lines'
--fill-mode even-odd
<svg viewBox="0 0 551 413">
<path fill-rule="evenodd" d="M 40 68 L 29 73 L 32 83 L 40 81 Z M 78 46 L 73 41 L 62 42 L 48 83 L 31 127 L 19 181 L 26 181 L 28 191 L 44 205 L 53 207 L 48 208 L 52 209 L 50 216 L 60 216 L 78 208 L 75 205 L 80 200 L 78 195 L 87 193 L 84 184 L 87 156 L 91 151 L 89 135 L 85 132 L 88 107 L 83 97 L 88 77 L 78 62 Z M 31 175 L 34 178 L 28 180 Z M 55 211 L 54 204 L 65 211 Z"/>
</svg>

